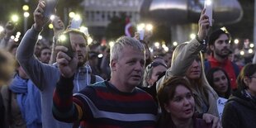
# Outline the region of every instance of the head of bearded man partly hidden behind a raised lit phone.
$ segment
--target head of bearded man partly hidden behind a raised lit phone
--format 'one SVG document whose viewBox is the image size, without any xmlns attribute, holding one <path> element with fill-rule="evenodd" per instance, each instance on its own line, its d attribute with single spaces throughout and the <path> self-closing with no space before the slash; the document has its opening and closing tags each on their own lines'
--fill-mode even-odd
<svg viewBox="0 0 256 128">
<path fill-rule="evenodd" d="M 78 53 L 78 67 L 83 66 L 88 60 L 88 38 L 82 32 L 76 29 L 64 31 L 61 35 L 69 36 L 72 49 Z M 59 40 L 57 44 L 59 43 Z"/>
</svg>

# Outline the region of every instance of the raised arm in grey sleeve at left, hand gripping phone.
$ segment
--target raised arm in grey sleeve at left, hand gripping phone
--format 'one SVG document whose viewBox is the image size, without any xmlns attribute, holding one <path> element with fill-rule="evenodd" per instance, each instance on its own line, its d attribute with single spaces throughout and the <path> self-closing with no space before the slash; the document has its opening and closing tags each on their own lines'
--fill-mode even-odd
<svg viewBox="0 0 256 128">
<path fill-rule="evenodd" d="M 26 31 L 25 36 L 21 40 L 21 44 L 17 49 L 17 60 L 21 67 L 26 71 L 26 74 L 31 78 L 33 83 L 36 84 L 40 90 L 43 90 L 43 85 L 50 78 L 53 78 L 52 72 L 58 72 L 58 69 L 54 69 L 48 64 L 42 64 L 34 56 L 36 49 L 36 42 L 40 31 L 45 26 L 47 19 L 43 17 L 42 13 L 45 9 L 45 2 L 40 1 L 34 12 L 35 23 Z"/>
</svg>

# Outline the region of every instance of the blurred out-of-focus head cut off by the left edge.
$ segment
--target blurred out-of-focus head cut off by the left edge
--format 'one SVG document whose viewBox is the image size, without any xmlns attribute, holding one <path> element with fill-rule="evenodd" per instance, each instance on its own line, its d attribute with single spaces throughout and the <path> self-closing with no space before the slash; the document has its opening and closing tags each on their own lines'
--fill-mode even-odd
<svg viewBox="0 0 256 128">
<path fill-rule="evenodd" d="M 14 73 L 14 56 L 7 50 L 0 49 L 0 87 L 7 84 Z"/>
</svg>

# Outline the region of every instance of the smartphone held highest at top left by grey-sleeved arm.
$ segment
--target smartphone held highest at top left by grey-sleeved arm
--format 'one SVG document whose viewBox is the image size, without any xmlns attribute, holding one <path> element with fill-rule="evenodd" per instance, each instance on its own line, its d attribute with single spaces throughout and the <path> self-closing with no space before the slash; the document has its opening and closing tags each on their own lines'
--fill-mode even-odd
<svg viewBox="0 0 256 128">
<path fill-rule="evenodd" d="M 50 18 L 50 16 L 53 15 L 55 12 L 55 7 L 57 5 L 58 0 L 45 0 L 45 2 L 46 2 L 46 7 L 45 7 L 44 16 Z"/>
</svg>

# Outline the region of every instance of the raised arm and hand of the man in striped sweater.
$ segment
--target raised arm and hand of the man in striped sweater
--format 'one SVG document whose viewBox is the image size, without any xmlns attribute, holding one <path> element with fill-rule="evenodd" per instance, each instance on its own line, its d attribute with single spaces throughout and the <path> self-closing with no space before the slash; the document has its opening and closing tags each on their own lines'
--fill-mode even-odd
<svg viewBox="0 0 256 128">
<path fill-rule="evenodd" d="M 64 53 L 67 48 L 61 45 L 56 46 L 56 51 L 58 53 L 56 61 L 61 76 L 54 93 L 53 115 L 59 121 L 78 121 L 81 118 L 78 114 L 81 107 L 73 102 L 73 76 L 78 64 L 78 55 L 76 53 L 71 59 Z"/>
</svg>

